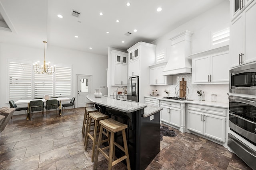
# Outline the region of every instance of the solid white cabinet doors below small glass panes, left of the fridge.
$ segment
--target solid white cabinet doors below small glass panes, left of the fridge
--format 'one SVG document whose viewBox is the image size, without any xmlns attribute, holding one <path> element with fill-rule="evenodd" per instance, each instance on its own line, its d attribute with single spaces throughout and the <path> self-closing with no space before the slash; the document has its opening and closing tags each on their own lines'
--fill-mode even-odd
<svg viewBox="0 0 256 170">
<path fill-rule="evenodd" d="M 115 66 L 115 85 L 127 85 L 127 65 L 116 64 Z"/>
</svg>

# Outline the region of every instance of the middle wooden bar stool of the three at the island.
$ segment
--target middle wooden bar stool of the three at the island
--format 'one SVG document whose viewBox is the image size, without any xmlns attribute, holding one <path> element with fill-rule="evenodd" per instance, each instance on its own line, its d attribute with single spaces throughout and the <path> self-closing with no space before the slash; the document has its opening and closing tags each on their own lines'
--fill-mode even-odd
<svg viewBox="0 0 256 170">
<path fill-rule="evenodd" d="M 108 119 L 108 115 L 104 115 L 103 113 L 97 111 L 97 112 L 89 113 L 89 117 L 90 117 L 89 118 L 90 121 L 89 121 L 89 123 L 87 123 L 86 136 L 85 136 L 85 139 L 84 139 L 84 145 L 85 145 L 84 150 L 87 150 L 88 139 L 90 137 L 90 139 L 92 139 L 92 162 L 93 162 L 94 161 L 95 145 L 96 145 L 96 143 L 98 143 L 98 141 L 96 140 L 96 137 L 98 135 L 98 133 L 97 133 L 98 123 L 99 123 L 100 120 Z M 90 128 L 91 128 L 91 125 L 92 125 L 92 120 L 94 120 L 94 133 L 93 133 L 93 135 L 90 134 Z M 107 137 L 109 136 L 105 132 L 104 132 L 104 135 L 106 135 Z M 102 142 L 109 142 L 109 138 L 103 140 Z"/>
</svg>

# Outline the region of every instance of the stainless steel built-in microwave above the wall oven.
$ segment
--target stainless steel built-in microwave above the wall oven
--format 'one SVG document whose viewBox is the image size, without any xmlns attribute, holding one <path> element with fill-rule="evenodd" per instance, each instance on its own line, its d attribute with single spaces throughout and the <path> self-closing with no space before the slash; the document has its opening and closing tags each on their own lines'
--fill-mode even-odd
<svg viewBox="0 0 256 170">
<path fill-rule="evenodd" d="M 256 95 L 256 63 L 233 68 L 229 75 L 231 93 Z"/>
</svg>

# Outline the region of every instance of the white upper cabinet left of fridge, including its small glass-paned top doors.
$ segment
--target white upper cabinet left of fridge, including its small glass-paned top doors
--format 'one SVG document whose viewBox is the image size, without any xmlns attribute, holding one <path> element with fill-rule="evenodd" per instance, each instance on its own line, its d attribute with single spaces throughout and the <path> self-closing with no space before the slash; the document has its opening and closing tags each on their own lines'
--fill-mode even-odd
<svg viewBox="0 0 256 170">
<path fill-rule="evenodd" d="M 112 50 L 111 53 L 111 86 L 127 85 L 128 54 Z"/>
</svg>

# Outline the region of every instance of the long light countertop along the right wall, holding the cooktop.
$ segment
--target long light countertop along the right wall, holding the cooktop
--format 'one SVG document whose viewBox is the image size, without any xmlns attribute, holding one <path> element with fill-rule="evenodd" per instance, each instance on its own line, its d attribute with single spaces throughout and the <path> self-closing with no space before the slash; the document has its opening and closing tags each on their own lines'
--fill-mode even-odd
<svg viewBox="0 0 256 170">
<path fill-rule="evenodd" d="M 200 104 L 203 106 L 214 106 L 214 107 L 221 107 L 224 109 L 228 109 L 228 103 L 220 103 L 220 102 L 211 102 L 211 101 L 200 101 L 200 100 L 173 100 L 173 99 L 164 99 L 162 96 L 145 96 L 147 98 L 154 98 L 158 100 L 165 100 L 170 102 L 177 102 L 177 103 L 185 103 L 185 104 Z"/>
</svg>

